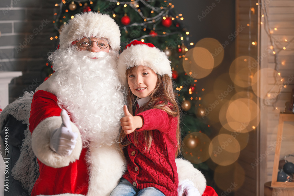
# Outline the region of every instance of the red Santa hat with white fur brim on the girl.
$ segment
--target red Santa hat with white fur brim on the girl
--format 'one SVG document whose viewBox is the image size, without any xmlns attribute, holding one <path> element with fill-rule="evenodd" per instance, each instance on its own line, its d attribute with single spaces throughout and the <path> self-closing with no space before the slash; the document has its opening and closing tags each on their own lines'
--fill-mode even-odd
<svg viewBox="0 0 294 196">
<path fill-rule="evenodd" d="M 124 85 L 127 84 L 126 70 L 139 65 L 149 67 L 159 75 L 172 76 L 171 61 L 163 51 L 151 43 L 132 41 L 118 58 L 118 73 Z"/>
</svg>

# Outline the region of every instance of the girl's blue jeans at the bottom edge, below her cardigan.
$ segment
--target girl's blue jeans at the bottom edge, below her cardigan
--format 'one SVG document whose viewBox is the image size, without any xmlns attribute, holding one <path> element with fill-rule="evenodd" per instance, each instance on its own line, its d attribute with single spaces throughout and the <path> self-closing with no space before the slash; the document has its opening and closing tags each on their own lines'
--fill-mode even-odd
<svg viewBox="0 0 294 196">
<path fill-rule="evenodd" d="M 128 180 L 121 178 L 121 181 L 114 188 L 110 196 L 165 196 L 155 187 L 137 189 Z"/>
</svg>

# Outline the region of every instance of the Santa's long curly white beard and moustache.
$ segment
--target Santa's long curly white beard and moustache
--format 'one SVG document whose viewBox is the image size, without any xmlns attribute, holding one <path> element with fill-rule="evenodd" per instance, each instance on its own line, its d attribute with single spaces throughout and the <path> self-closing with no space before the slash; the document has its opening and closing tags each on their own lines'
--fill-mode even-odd
<svg viewBox="0 0 294 196">
<path fill-rule="evenodd" d="M 111 145 L 118 137 L 124 96 L 117 59 L 115 51 L 92 53 L 76 48 L 59 49 L 49 56 L 57 71 L 50 86 L 59 106 L 79 128 L 84 147 Z"/>
</svg>

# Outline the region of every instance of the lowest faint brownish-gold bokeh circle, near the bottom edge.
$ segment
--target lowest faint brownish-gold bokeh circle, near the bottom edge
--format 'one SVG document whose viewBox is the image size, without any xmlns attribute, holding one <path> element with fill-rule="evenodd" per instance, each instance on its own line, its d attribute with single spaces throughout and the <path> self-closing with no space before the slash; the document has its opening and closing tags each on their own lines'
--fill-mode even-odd
<svg viewBox="0 0 294 196">
<path fill-rule="evenodd" d="M 216 185 L 226 192 L 238 190 L 245 181 L 245 170 L 239 163 L 216 167 L 214 171 Z"/>
</svg>

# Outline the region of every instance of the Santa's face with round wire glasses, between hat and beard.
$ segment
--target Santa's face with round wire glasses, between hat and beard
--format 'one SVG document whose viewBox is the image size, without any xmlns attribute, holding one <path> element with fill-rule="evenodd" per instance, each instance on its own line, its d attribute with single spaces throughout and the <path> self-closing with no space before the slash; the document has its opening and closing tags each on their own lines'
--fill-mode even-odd
<svg viewBox="0 0 294 196">
<path fill-rule="evenodd" d="M 89 51 L 89 52 L 109 52 L 110 45 L 106 38 L 82 38 L 81 40 L 77 40 L 75 43 L 77 48 L 81 51 Z"/>
</svg>

